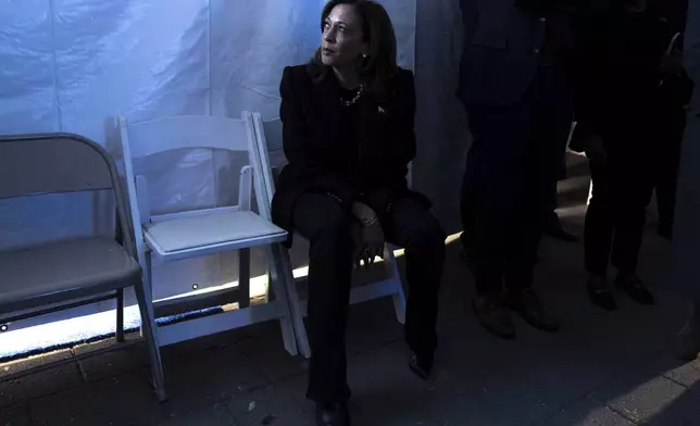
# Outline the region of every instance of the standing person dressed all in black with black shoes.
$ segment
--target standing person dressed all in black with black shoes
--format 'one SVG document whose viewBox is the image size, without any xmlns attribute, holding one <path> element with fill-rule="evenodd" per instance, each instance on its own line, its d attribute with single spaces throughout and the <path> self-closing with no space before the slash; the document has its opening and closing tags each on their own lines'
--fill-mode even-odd
<svg viewBox="0 0 700 426">
<path fill-rule="evenodd" d="M 618 1 L 589 27 L 578 120 L 593 183 L 585 263 L 592 302 L 612 311 L 617 304 L 608 285 L 610 263 L 617 287 L 639 303 L 654 303 L 637 275 L 637 258 L 655 158 L 665 149 L 659 84 L 673 32 L 646 0 Z"/>
</svg>

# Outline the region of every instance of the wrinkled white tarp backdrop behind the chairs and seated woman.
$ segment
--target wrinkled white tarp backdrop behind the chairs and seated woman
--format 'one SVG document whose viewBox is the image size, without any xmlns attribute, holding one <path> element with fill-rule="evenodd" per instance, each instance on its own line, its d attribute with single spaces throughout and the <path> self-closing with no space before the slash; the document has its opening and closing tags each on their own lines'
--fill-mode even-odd
<svg viewBox="0 0 700 426">
<path fill-rule="evenodd" d="M 453 97 L 461 48 L 459 2 L 380 2 L 397 29 L 399 62 L 416 74 L 414 187 L 433 199 L 438 217 L 455 231 L 467 150 L 465 115 Z M 120 113 L 130 121 L 179 114 L 238 117 L 243 110 L 276 117 L 282 70 L 305 62 L 317 47 L 324 3 L 0 0 L 0 134 L 71 131 L 113 148 L 118 146 L 113 139 Z M 145 165 L 154 193 L 151 206 L 172 212 L 232 199 L 210 178 L 217 168 L 215 156 L 175 152 Z M 172 184 L 175 177 L 178 185 Z M 99 195 L 0 200 L 0 249 L 110 233 L 111 210 L 104 200 Z M 259 253 L 253 254 L 253 275 L 263 273 Z M 229 265 L 236 258 L 224 258 L 158 267 L 154 297 L 182 293 L 192 283 L 235 280 L 237 267 Z M 86 306 L 12 329 L 111 308 Z M 52 334 L 68 333 L 62 330 Z M 22 331 L 5 333 L 0 341 L 10 342 L 11 335 Z M 0 352 L 3 347 L 9 344 L 0 344 Z"/>
</svg>

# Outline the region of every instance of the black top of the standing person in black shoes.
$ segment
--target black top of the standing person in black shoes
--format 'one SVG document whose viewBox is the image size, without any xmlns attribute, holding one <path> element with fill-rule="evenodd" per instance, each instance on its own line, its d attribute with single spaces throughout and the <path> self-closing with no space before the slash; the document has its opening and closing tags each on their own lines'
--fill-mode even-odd
<svg viewBox="0 0 700 426">
<path fill-rule="evenodd" d="M 667 22 L 653 8 L 620 8 L 592 15 L 586 29 L 576 67 L 579 130 L 653 118 L 663 78 L 659 65 L 673 37 Z"/>
</svg>

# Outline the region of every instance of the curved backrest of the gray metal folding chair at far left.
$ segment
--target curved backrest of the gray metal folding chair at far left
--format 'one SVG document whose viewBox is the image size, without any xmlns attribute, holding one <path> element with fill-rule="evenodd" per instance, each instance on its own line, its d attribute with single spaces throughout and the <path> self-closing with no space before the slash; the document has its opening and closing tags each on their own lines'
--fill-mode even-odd
<svg viewBox="0 0 700 426">
<path fill-rule="evenodd" d="M 79 135 L 0 136 L 0 199 L 112 190 L 122 242 L 134 255 L 126 203 L 112 156 Z"/>
</svg>

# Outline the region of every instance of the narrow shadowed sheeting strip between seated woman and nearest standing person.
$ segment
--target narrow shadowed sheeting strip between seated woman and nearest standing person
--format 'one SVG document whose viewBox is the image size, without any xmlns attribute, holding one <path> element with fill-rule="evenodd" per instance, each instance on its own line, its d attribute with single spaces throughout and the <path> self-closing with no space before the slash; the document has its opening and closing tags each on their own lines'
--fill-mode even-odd
<svg viewBox="0 0 700 426">
<path fill-rule="evenodd" d="M 448 234 L 460 223 L 460 192 L 470 135 L 454 96 L 462 54 L 459 0 L 416 1 L 415 77 L 417 159 L 414 187 L 434 202 Z"/>
</svg>

